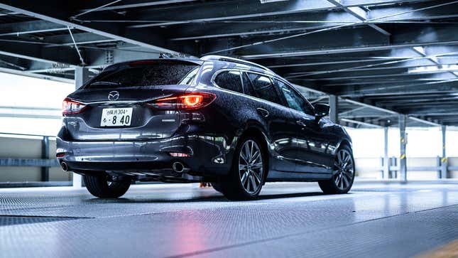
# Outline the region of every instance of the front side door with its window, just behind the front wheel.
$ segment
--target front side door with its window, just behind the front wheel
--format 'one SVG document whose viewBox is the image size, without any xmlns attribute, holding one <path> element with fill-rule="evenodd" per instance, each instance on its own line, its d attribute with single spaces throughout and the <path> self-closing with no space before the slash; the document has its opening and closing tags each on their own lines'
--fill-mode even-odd
<svg viewBox="0 0 458 258">
<path fill-rule="evenodd" d="M 295 141 L 298 143 L 295 171 L 328 173 L 330 150 L 325 123 L 315 119 L 312 105 L 293 87 L 280 80 L 276 80 L 276 85 L 290 107 L 294 120 Z"/>
</svg>

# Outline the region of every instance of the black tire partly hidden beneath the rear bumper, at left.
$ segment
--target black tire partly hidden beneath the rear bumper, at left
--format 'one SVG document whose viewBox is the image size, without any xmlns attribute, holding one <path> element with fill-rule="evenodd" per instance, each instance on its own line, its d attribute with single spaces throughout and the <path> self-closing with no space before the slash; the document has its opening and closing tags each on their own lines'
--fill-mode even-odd
<svg viewBox="0 0 458 258">
<path fill-rule="evenodd" d="M 89 193 L 98 198 L 119 198 L 127 192 L 131 181 L 126 179 L 123 181 L 109 182 L 108 176 L 83 176 L 84 184 Z"/>
</svg>

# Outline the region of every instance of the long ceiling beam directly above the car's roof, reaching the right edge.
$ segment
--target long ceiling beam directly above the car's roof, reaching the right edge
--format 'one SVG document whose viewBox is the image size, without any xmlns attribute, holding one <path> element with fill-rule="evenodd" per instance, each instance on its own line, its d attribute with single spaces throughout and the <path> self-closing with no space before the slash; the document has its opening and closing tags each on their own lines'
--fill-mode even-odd
<svg viewBox="0 0 458 258">
<path fill-rule="evenodd" d="M 396 48 L 412 48 L 417 46 L 456 45 L 458 44 L 456 24 L 398 26 L 390 40 L 367 28 L 339 29 L 323 31 L 298 38 L 288 38 L 271 43 L 253 45 L 231 53 L 244 59 L 303 57 L 307 55 L 329 55 L 339 53 L 369 52 L 393 50 Z M 240 45 L 248 45 L 258 41 L 270 41 L 278 36 L 264 38 L 247 38 L 239 41 Z M 335 41 L 339 38 L 339 41 Z M 355 41 L 355 38 L 358 40 Z M 209 42 L 206 53 L 222 50 L 224 41 Z M 326 48 L 323 48 L 323 45 Z M 224 49 L 224 48 L 223 48 Z"/>
</svg>

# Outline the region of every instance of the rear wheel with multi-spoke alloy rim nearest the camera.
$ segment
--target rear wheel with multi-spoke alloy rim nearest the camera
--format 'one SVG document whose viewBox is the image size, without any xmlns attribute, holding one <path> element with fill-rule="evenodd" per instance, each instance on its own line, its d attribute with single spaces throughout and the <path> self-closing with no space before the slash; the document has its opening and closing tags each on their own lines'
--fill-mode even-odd
<svg viewBox="0 0 458 258">
<path fill-rule="evenodd" d="M 251 143 L 254 143 L 252 145 L 253 149 L 257 147 L 259 151 L 258 157 L 256 151 L 254 153 L 251 152 L 253 155 L 249 159 L 253 159 L 252 163 L 250 163 L 250 161 L 247 162 L 245 158 L 241 158 L 242 147 L 245 147 L 245 144 Z M 246 154 L 246 150 L 244 150 L 244 154 Z M 240 160 L 242 160 L 242 163 L 247 164 L 246 166 L 241 164 L 240 166 L 245 166 L 245 168 L 241 170 L 239 170 Z M 261 164 L 259 164 L 258 161 L 261 161 Z M 255 136 L 245 136 L 240 139 L 234 151 L 234 158 L 232 159 L 229 175 L 222 178 L 219 183 L 221 193 L 229 200 L 252 200 L 261 192 L 266 173 L 268 173 L 266 150 L 261 144 L 261 140 Z M 242 183 L 243 178 L 245 184 Z M 251 183 L 251 181 L 254 181 L 254 183 Z M 248 188 L 248 190 L 246 188 Z M 252 190 L 250 191 L 250 189 Z"/>
</svg>

